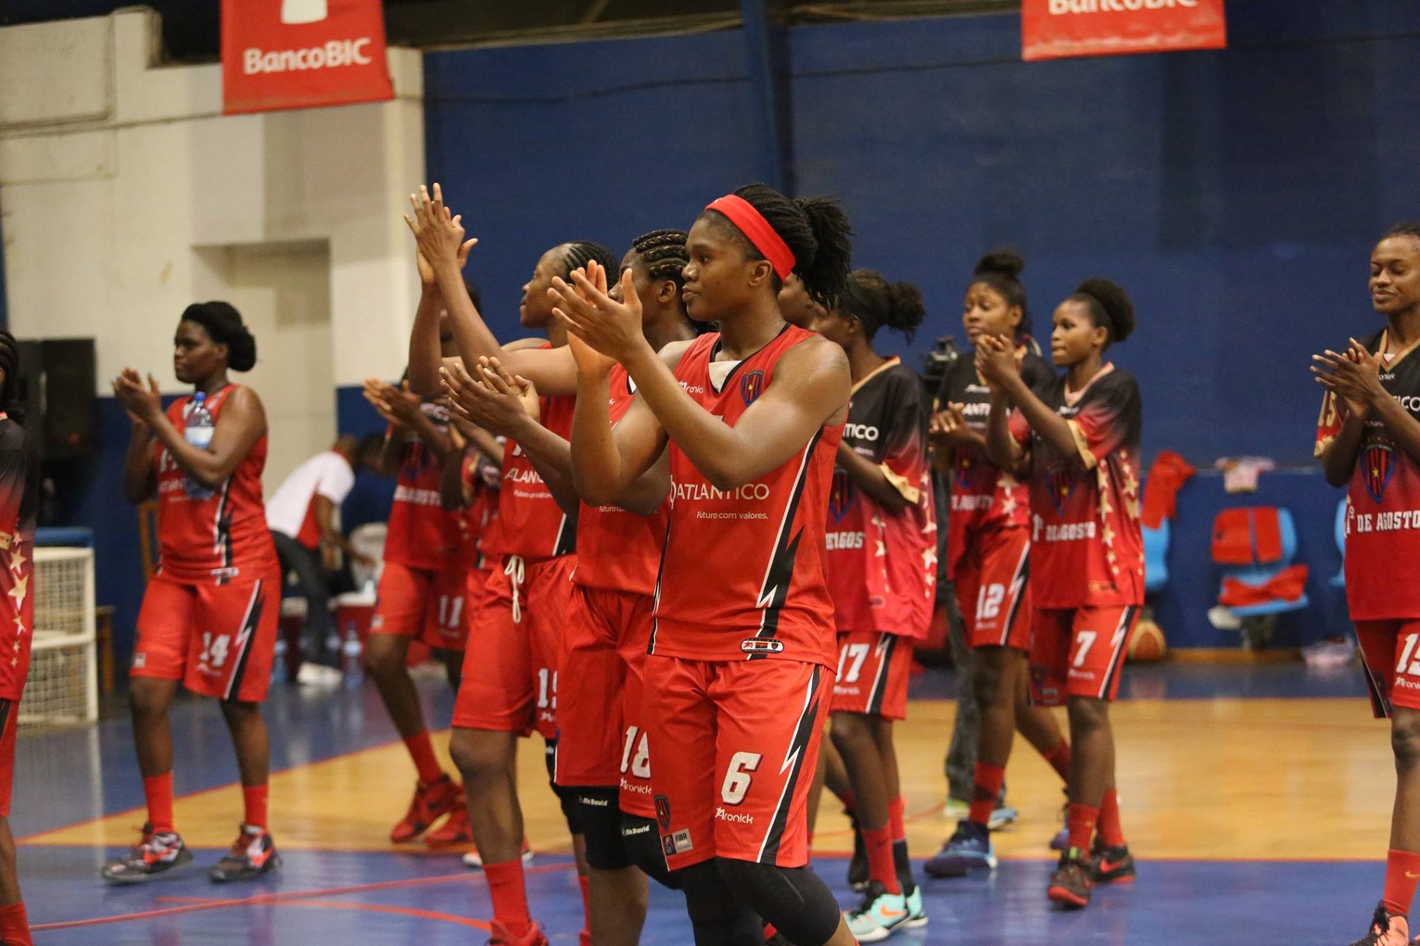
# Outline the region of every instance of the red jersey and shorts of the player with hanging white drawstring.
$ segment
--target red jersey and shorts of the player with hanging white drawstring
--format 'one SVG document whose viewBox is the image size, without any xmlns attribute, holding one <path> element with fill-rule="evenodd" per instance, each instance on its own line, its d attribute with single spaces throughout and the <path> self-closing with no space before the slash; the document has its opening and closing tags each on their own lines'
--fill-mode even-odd
<svg viewBox="0 0 1420 946">
<path fill-rule="evenodd" d="M 544 397 L 538 417 L 571 438 L 575 397 Z M 557 739 L 557 667 L 572 601 L 577 521 L 515 441 L 503 448 L 498 518 L 483 538 L 484 600 L 473 616 L 453 725 Z"/>
</svg>

